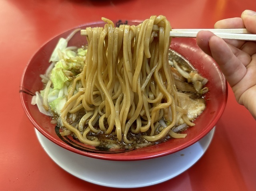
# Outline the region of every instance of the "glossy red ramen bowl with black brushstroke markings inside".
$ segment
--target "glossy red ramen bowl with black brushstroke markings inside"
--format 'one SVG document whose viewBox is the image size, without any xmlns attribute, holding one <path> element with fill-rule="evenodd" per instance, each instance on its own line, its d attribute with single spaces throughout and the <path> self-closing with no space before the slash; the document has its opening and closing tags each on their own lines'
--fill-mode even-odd
<svg viewBox="0 0 256 191">
<path fill-rule="evenodd" d="M 139 21 L 114 21 L 116 26 L 120 24 L 138 25 Z M 86 27 L 104 26 L 104 22 L 97 22 L 92 24 L 85 24 L 78 28 L 85 29 Z M 191 65 L 203 77 L 208 79 L 207 87 L 208 93 L 205 95 L 206 109 L 202 114 L 194 120 L 196 124 L 188 128 L 184 133 L 187 134 L 183 139 L 171 139 L 166 142 L 139 148 L 134 150 L 116 150 L 104 151 L 98 150 L 93 146 L 81 144 L 74 140 L 72 136 L 60 136 L 59 128 L 55 124 L 51 124 L 51 118 L 42 114 L 36 105 L 31 104 L 32 96 L 36 91 L 43 89 L 40 74 L 44 74 L 49 66 L 49 58 L 54 50 L 56 43 L 60 37 L 66 38 L 74 29 L 68 30 L 43 45 L 32 57 L 26 66 L 20 85 L 20 97 L 26 115 L 35 126 L 35 128 L 46 138 L 69 150 L 71 152 L 81 154 L 98 159 L 116 160 L 116 161 L 133 161 L 150 159 L 161 156 L 166 156 L 178 152 L 202 139 L 208 132 L 214 128 L 220 116 L 222 115 L 226 106 L 228 95 L 226 80 L 220 71 L 216 62 L 206 55 L 197 45 L 194 38 L 173 38 L 171 49 L 183 55 Z M 86 38 L 82 37 L 80 33 L 76 33 L 69 41 L 69 46 L 80 47 L 86 43 Z"/>
</svg>

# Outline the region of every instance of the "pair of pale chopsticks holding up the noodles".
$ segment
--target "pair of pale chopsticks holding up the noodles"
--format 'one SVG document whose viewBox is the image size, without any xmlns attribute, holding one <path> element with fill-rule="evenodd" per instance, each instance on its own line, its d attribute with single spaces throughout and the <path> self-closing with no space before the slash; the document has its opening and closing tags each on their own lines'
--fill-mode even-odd
<svg viewBox="0 0 256 191">
<path fill-rule="evenodd" d="M 153 27 L 153 30 L 157 31 L 158 27 Z M 170 37 L 196 37 L 201 30 L 213 32 L 223 39 L 256 41 L 256 34 L 252 34 L 246 29 L 172 29 Z M 81 30 L 81 35 L 87 35 L 86 30 Z"/>
</svg>

